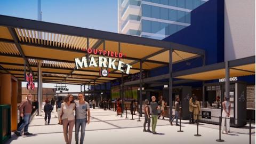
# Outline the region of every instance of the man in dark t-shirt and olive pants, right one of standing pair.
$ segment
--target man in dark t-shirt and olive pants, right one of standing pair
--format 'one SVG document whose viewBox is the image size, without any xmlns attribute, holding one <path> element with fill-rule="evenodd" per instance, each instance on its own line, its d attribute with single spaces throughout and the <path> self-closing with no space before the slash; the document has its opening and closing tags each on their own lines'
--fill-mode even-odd
<svg viewBox="0 0 256 144">
<path fill-rule="evenodd" d="M 157 134 L 156 133 L 156 123 L 157 123 L 157 111 L 159 108 L 158 103 L 156 102 L 156 97 L 153 96 L 151 97 L 152 101 L 150 102 L 150 107 L 151 107 L 151 115 L 152 115 L 152 131 L 153 134 Z"/>
</svg>

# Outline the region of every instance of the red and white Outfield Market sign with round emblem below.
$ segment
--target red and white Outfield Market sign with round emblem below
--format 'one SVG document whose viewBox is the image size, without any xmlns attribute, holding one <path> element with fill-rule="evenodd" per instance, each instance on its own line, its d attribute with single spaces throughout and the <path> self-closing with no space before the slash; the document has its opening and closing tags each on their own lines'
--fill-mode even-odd
<svg viewBox="0 0 256 144">
<path fill-rule="evenodd" d="M 97 54 L 102 56 L 97 56 L 97 57 L 92 56 L 88 59 L 87 57 L 82 57 L 80 59 L 75 58 L 76 69 L 87 68 L 87 67 L 113 68 L 113 69 L 122 71 L 128 75 L 130 72 L 130 69 L 132 68 L 131 65 L 121 60 L 118 61 L 117 59 L 115 59 L 115 58 L 123 58 L 124 55 L 121 52 L 117 53 L 113 51 L 87 49 L 87 53 Z M 105 58 L 105 57 L 110 57 L 110 58 Z M 103 69 L 101 71 L 101 75 L 107 76 L 108 72 L 109 72 L 108 70 Z"/>
</svg>

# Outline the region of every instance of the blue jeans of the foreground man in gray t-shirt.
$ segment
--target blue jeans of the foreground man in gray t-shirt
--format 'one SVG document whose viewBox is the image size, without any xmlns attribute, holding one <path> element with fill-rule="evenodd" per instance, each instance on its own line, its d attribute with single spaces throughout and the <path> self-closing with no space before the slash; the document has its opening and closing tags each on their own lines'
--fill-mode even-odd
<svg viewBox="0 0 256 144">
<path fill-rule="evenodd" d="M 80 143 L 82 144 L 84 142 L 84 135 L 85 135 L 85 126 L 87 123 L 87 118 L 85 119 L 76 119 L 76 124 L 75 124 L 75 139 L 76 139 L 76 143 L 79 141 L 78 139 L 78 133 L 80 130 L 80 126 L 81 126 L 81 138 L 80 138 Z"/>
</svg>

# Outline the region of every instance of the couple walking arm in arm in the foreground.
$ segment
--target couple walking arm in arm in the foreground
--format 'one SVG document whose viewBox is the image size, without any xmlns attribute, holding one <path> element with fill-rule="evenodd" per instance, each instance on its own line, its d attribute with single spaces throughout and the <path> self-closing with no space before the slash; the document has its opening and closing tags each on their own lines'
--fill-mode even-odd
<svg viewBox="0 0 256 144">
<path fill-rule="evenodd" d="M 84 141 L 86 123 L 90 123 L 90 106 L 84 101 L 84 94 L 78 94 L 79 101 L 74 102 L 73 95 L 69 94 L 61 103 L 60 124 L 63 125 L 63 134 L 67 144 L 71 143 L 73 127 L 75 125 L 75 140 L 78 143 L 78 132 L 81 127 L 80 143 Z M 74 110 L 76 116 L 74 116 Z"/>
</svg>

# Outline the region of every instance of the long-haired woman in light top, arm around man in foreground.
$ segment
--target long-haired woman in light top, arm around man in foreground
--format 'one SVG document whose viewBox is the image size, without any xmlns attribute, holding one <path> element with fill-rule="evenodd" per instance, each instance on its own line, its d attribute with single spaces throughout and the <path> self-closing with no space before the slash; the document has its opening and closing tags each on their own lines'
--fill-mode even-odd
<svg viewBox="0 0 256 144">
<path fill-rule="evenodd" d="M 71 140 L 72 140 L 72 132 L 75 124 L 75 116 L 74 116 L 75 107 L 76 105 L 74 103 L 72 94 L 69 94 L 64 99 L 64 102 L 61 103 L 61 107 L 60 107 L 60 114 L 61 114 L 60 124 L 63 124 L 63 134 L 67 144 L 71 144 Z"/>
</svg>

